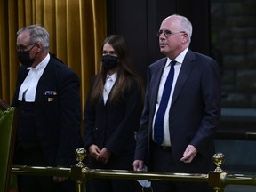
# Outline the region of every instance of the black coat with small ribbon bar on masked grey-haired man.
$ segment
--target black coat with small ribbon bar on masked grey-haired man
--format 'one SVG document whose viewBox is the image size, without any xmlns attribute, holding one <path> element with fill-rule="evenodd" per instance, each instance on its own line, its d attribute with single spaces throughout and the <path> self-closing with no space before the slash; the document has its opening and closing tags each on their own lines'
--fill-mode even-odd
<svg viewBox="0 0 256 192">
<path fill-rule="evenodd" d="M 20 107 L 20 85 L 27 75 L 27 67 L 21 66 L 12 106 Z M 47 165 L 76 164 L 75 151 L 82 146 L 79 86 L 78 76 L 51 56 L 37 84 L 33 109 L 36 137 Z M 22 108 L 19 112 L 22 113 Z M 29 134 L 21 132 L 21 137 L 29 137 Z"/>
</svg>

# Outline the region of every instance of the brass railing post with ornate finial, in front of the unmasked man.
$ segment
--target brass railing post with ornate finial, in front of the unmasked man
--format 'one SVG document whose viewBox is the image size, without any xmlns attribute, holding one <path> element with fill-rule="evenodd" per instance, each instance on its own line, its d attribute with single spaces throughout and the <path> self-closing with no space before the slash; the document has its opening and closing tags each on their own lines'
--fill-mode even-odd
<svg viewBox="0 0 256 192">
<path fill-rule="evenodd" d="M 222 180 L 225 179 L 227 172 L 223 172 L 220 165 L 223 163 L 225 156 L 222 153 L 217 153 L 212 158 L 217 167 L 214 172 L 209 172 L 208 183 L 212 186 L 214 192 L 224 192 L 225 186 Z"/>
</svg>

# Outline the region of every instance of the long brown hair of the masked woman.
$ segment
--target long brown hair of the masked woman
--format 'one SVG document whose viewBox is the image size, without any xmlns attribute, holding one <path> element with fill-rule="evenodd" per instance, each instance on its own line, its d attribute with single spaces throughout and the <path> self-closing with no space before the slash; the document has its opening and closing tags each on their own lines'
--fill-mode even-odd
<svg viewBox="0 0 256 192">
<path fill-rule="evenodd" d="M 143 100 L 144 91 L 141 83 L 140 76 L 138 76 L 135 70 L 132 68 L 132 60 L 130 57 L 128 45 L 126 44 L 123 36 L 111 35 L 108 36 L 101 46 L 101 51 L 103 50 L 104 44 L 110 44 L 119 60 L 119 67 L 117 68 L 117 78 L 116 83 L 112 88 L 111 94 L 108 96 L 108 100 L 111 103 L 116 104 L 122 98 L 124 99 L 125 92 L 130 90 L 132 82 L 138 82 L 141 90 L 141 99 Z M 100 73 L 96 78 L 96 82 L 92 89 L 91 100 L 92 103 L 97 103 L 102 100 L 103 89 L 105 80 L 108 74 L 108 70 L 103 67 L 100 63 Z"/>
</svg>

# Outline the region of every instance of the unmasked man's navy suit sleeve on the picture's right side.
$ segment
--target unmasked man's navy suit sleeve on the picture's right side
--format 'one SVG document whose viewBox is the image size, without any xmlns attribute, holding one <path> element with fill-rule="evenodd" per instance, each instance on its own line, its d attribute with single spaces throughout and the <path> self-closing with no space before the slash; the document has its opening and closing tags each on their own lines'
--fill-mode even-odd
<svg viewBox="0 0 256 192">
<path fill-rule="evenodd" d="M 217 63 L 212 59 L 204 65 L 201 87 L 204 116 L 195 137 L 191 141 L 191 145 L 204 154 L 207 151 L 207 143 L 213 140 L 220 120 L 220 70 Z"/>
</svg>

